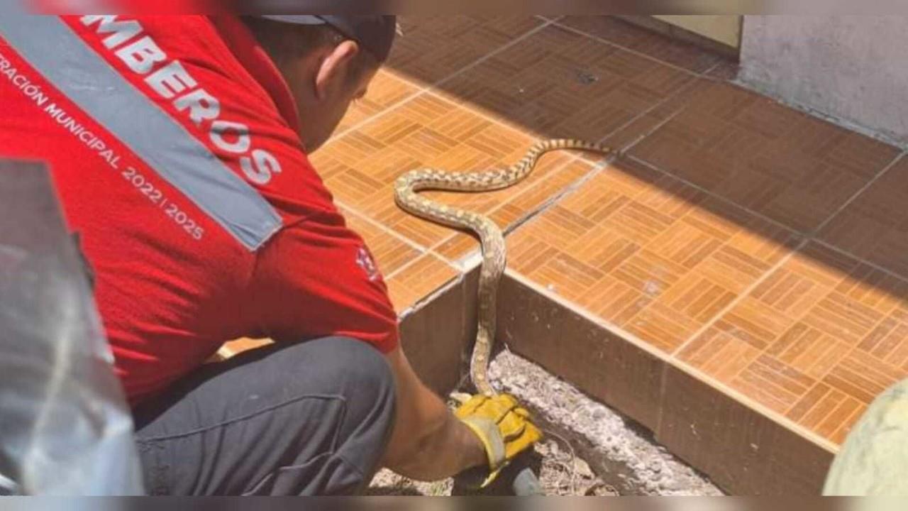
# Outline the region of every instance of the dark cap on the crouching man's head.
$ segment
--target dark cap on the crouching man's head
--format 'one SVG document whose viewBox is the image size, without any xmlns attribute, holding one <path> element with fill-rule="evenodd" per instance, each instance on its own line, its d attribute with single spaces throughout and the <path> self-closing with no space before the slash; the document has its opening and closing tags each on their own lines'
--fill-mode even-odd
<svg viewBox="0 0 908 511">
<path fill-rule="evenodd" d="M 397 34 L 397 16 L 345 16 L 345 15 L 263 15 L 263 18 L 296 25 L 331 25 L 341 34 L 350 37 L 372 55 L 384 62 L 388 60 L 394 35 Z"/>
</svg>

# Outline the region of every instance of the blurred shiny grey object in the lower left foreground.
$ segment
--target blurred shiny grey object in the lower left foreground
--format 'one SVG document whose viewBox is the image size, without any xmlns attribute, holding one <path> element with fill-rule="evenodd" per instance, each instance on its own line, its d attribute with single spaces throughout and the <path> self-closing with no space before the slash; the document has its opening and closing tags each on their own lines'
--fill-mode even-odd
<svg viewBox="0 0 908 511">
<path fill-rule="evenodd" d="M 0 495 L 142 495 L 103 332 L 49 173 L 0 159 Z"/>
</svg>

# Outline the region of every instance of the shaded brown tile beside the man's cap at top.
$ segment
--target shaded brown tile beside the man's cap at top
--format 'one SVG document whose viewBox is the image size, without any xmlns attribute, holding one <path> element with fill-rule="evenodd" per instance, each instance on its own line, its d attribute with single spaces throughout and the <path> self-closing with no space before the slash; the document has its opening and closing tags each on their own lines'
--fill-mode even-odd
<svg viewBox="0 0 908 511">
<path fill-rule="evenodd" d="M 401 16 L 388 66 L 420 84 L 445 78 L 544 23 L 532 16 Z"/>
</svg>

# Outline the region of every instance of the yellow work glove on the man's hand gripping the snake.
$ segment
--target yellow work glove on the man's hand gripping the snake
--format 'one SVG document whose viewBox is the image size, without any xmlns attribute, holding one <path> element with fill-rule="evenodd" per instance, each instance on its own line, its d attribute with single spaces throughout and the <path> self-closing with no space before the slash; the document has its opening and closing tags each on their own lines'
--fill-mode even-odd
<svg viewBox="0 0 908 511">
<path fill-rule="evenodd" d="M 455 412 L 486 448 L 489 476 L 480 487 L 489 486 L 515 456 L 542 439 L 529 412 L 512 396 L 472 396 Z"/>
</svg>

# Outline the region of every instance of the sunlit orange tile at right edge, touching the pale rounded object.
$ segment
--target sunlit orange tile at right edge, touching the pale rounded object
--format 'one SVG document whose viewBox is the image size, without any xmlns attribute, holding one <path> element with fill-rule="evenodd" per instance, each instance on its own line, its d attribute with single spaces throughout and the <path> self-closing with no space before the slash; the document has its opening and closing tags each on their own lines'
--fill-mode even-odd
<svg viewBox="0 0 908 511">
<path fill-rule="evenodd" d="M 834 442 L 908 376 L 908 283 L 811 242 L 678 358 Z M 735 356 L 716 356 L 725 346 Z"/>
</svg>

